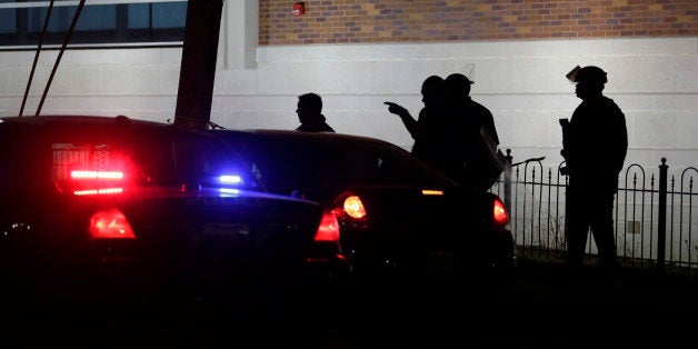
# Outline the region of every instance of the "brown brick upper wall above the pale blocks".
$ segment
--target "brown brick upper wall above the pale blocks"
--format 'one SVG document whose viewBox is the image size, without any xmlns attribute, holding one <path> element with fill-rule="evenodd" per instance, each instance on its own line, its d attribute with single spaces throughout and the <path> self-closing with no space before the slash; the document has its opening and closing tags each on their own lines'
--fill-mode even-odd
<svg viewBox="0 0 698 349">
<path fill-rule="evenodd" d="M 697 0 L 259 0 L 259 44 L 698 36 Z"/>
</svg>

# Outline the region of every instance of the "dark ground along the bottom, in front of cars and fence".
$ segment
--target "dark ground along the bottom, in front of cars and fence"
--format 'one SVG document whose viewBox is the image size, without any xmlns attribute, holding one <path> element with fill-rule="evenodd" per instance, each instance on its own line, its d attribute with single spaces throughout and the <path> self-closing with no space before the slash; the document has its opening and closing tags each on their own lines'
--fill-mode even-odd
<svg viewBox="0 0 698 349">
<path fill-rule="evenodd" d="M 521 260 L 510 289 L 431 278 L 341 292 L 211 286 L 169 301 L 58 292 L 14 303 L 4 333 L 22 346 L 73 348 L 692 347 L 695 276 L 626 270 L 617 290 L 604 288 L 594 267 L 574 286 L 564 276 L 559 265 Z"/>
</svg>

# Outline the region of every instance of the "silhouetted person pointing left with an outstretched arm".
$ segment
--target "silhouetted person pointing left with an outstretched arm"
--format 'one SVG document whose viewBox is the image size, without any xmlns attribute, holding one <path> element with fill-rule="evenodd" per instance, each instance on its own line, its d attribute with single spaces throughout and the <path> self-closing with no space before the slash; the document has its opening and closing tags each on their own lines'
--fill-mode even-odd
<svg viewBox="0 0 698 349">
<path fill-rule="evenodd" d="M 407 109 L 393 102 L 385 102 L 388 111 L 397 114 L 405 123 L 415 143 L 411 153 L 422 161 L 441 170 L 449 176 L 448 160 L 450 150 L 447 147 L 445 130 L 445 97 L 446 86 L 443 78 L 430 76 L 421 84 L 421 101 L 423 108 L 419 111 L 417 120 Z"/>
</svg>

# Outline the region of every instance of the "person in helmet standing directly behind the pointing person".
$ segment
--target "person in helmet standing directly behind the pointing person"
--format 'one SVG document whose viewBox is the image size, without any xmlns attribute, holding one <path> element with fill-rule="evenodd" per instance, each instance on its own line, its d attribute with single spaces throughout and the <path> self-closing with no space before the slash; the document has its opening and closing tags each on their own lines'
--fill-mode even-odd
<svg viewBox="0 0 698 349">
<path fill-rule="evenodd" d="M 500 173 L 496 172 L 492 163 L 499 146 L 495 118 L 489 109 L 470 97 L 470 87 L 475 82 L 468 77 L 452 73 L 445 81 L 448 114 L 459 132 L 458 137 L 453 136 L 459 143 L 453 143 L 451 148 L 465 151 L 466 169 L 460 181 L 476 190 L 488 190 Z"/>
</svg>

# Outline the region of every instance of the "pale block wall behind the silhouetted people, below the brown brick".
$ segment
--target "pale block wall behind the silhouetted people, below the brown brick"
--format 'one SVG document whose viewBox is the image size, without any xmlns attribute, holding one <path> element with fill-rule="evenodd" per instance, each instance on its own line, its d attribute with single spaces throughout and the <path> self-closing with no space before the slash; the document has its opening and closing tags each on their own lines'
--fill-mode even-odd
<svg viewBox="0 0 698 349">
<path fill-rule="evenodd" d="M 34 52 L 0 52 L 0 116 L 17 114 Z M 43 51 L 24 114 L 33 114 L 57 51 Z M 220 54 L 219 57 L 223 57 Z M 181 49 L 72 50 L 63 54 L 42 113 L 128 114 L 172 119 Z M 226 69 L 219 59 L 211 121 L 227 128 L 298 126 L 297 96 L 317 92 L 328 122 L 343 133 L 412 140 L 383 101 L 421 108 L 420 86 L 475 64 L 471 96 L 490 108 L 515 161 L 561 161 L 559 118 L 580 102 L 565 73 L 596 64 L 606 94 L 625 111 L 626 164 L 656 171 L 698 167 L 698 38 L 540 40 L 458 43 L 262 47 L 257 67 Z"/>
</svg>

